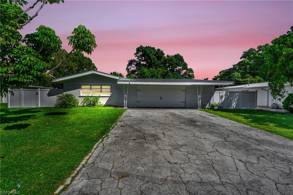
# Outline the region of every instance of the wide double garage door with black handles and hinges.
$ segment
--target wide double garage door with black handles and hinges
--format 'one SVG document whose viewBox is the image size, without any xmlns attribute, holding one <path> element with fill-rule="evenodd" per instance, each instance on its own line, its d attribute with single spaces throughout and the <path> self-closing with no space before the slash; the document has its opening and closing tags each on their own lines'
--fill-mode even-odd
<svg viewBox="0 0 293 195">
<path fill-rule="evenodd" d="M 136 87 L 137 107 L 185 107 L 185 86 Z"/>
</svg>

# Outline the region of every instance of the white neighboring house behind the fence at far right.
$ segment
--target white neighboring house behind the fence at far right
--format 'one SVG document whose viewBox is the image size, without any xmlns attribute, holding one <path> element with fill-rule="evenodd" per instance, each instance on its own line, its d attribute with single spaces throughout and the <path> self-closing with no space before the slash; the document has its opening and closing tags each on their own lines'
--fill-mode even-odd
<svg viewBox="0 0 293 195">
<path fill-rule="evenodd" d="M 288 91 L 285 94 L 285 98 L 287 97 L 288 93 L 293 93 L 293 87 L 289 84 L 285 86 L 285 89 Z M 271 106 L 272 103 L 276 103 L 278 107 L 282 108 L 282 102 L 285 98 L 281 101 L 274 99 L 271 95 L 270 87 L 268 83 L 254 83 L 254 84 L 246 84 L 246 85 L 238 85 L 238 86 L 229 86 L 224 87 L 224 90 L 227 91 L 257 91 L 257 105 L 258 106 Z"/>
</svg>

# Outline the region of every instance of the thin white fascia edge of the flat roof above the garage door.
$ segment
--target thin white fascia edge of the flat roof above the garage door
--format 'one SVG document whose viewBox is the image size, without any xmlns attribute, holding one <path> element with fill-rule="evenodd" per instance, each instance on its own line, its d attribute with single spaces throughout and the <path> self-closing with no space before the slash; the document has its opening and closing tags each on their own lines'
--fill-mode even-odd
<svg viewBox="0 0 293 195">
<path fill-rule="evenodd" d="M 117 81 L 117 84 L 132 85 L 232 85 L 233 82 L 133 82 L 133 81 Z"/>
</svg>

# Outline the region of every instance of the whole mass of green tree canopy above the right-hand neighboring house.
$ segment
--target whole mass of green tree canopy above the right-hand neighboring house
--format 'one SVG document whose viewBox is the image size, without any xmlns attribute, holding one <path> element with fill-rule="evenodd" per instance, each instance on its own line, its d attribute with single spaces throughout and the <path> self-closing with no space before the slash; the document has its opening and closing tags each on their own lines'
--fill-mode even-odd
<svg viewBox="0 0 293 195">
<path fill-rule="evenodd" d="M 243 52 L 241 61 L 222 70 L 213 80 L 231 80 L 234 84 L 269 82 L 271 94 L 281 100 L 287 92 L 286 84 L 293 86 L 293 26 L 285 35 Z"/>
</svg>

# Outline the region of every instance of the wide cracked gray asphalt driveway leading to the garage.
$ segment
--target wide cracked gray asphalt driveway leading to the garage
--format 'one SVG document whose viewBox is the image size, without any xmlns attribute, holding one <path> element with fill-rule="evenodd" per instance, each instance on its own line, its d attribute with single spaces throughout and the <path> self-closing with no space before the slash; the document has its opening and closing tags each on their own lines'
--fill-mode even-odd
<svg viewBox="0 0 293 195">
<path fill-rule="evenodd" d="M 62 194 L 293 194 L 293 141 L 196 109 L 128 109 Z"/>
</svg>

